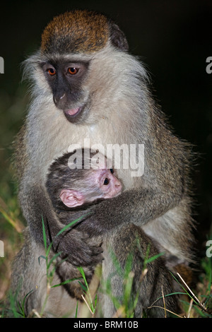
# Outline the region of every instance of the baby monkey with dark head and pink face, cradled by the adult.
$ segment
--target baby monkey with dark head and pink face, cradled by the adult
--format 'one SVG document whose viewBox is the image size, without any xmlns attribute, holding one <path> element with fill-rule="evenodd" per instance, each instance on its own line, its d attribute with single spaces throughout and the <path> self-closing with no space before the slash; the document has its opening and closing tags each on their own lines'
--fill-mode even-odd
<svg viewBox="0 0 212 332">
<path fill-rule="evenodd" d="M 107 168 L 109 167 L 109 168 Z M 100 153 L 90 149 L 75 150 L 62 155 L 52 162 L 47 176 L 47 191 L 52 205 L 61 223 L 64 225 L 76 219 L 76 211 L 96 204 L 104 199 L 113 198 L 122 192 L 122 184 L 115 177 L 112 163 Z M 89 239 L 89 244 L 97 246 L 93 255 L 93 264 L 83 267 L 88 283 L 95 266 L 102 262 L 102 248 L 97 239 Z M 81 278 L 78 269 L 71 263 L 57 259 L 57 275 L 62 282 Z M 72 297 L 81 300 L 81 286 L 78 281 L 64 285 Z"/>
</svg>

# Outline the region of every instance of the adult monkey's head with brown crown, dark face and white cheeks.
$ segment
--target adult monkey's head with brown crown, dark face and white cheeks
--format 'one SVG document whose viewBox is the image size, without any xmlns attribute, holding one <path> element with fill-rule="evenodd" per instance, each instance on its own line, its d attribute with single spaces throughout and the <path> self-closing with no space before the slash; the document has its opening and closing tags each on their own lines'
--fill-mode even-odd
<svg viewBox="0 0 212 332">
<path fill-rule="evenodd" d="M 38 100 L 42 95 L 45 107 L 48 103 L 51 110 L 54 101 L 68 121 L 96 124 L 107 117 L 119 86 L 113 83 L 122 72 L 117 66 L 120 57 L 112 61 L 111 52 L 127 50 L 124 33 L 111 20 L 99 13 L 71 11 L 47 25 L 40 51 L 25 62 L 25 69 L 35 80 L 33 93 Z"/>
</svg>

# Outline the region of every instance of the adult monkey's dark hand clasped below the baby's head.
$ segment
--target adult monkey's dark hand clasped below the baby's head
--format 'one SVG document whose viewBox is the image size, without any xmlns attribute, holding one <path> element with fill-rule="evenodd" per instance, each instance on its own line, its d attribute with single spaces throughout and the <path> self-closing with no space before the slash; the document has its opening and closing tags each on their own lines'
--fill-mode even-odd
<svg viewBox="0 0 212 332">
<path fill-rule="evenodd" d="M 102 263 L 102 242 L 90 239 L 88 233 L 76 229 L 69 230 L 57 240 L 54 251 L 61 252 L 61 258 L 73 266 L 96 266 Z"/>
</svg>

